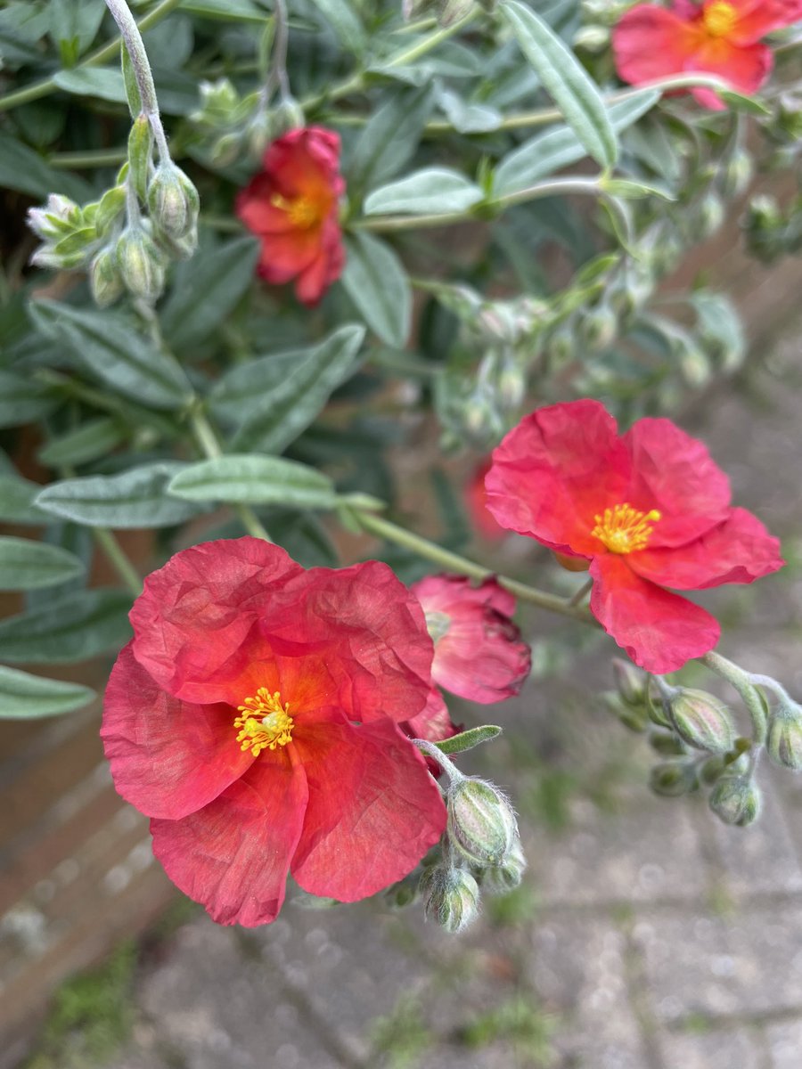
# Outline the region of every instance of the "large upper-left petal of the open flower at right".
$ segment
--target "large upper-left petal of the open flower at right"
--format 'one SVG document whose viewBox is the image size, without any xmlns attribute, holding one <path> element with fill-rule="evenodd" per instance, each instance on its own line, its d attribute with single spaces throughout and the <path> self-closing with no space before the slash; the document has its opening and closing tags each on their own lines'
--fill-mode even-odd
<svg viewBox="0 0 802 1069">
<path fill-rule="evenodd" d="M 624 500 L 630 461 L 598 401 L 540 408 L 493 453 L 488 508 L 503 527 L 551 549 L 592 557 L 595 516 Z"/>
</svg>

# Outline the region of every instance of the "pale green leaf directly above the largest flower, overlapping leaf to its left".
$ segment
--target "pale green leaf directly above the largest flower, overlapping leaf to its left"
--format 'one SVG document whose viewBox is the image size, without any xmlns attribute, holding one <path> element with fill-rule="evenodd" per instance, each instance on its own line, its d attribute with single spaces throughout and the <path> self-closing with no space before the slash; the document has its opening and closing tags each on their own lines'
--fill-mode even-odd
<svg viewBox="0 0 802 1069">
<path fill-rule="evenodd" d="M 336 501 L 328 476 L 306 464 L 279 456 L 230 453 L 191 464 L 167 487 L 186 501 L 281 505 L 296 509 L 330 509 Z"/>
</svg>

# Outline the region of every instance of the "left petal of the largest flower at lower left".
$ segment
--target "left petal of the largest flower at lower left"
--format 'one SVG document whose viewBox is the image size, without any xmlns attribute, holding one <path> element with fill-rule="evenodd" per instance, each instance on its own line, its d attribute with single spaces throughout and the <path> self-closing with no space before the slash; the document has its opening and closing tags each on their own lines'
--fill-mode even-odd
<svg viewBox="0 0 802 1069">
<path fill-rule="evenodd" d="M 118 792 L 149 817 L 179 820 L 216 799 L 253 761 L 229 706 L 173 698 L 128 642 L 111 669 L 101 738 Z"/>
</svg>

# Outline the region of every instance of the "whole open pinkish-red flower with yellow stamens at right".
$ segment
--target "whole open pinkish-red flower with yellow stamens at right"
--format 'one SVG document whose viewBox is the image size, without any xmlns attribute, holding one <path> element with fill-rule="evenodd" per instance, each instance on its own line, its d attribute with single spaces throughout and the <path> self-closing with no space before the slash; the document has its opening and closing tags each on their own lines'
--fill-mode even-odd
<svg viewBox="0 0 802 1069">
<path fill-rule="evenodd" d="M 674 671 L 719 640 L 718 621 L 677 590 L 752 583 L 780 543 L 745 509 L 705 446 L 667 419 L 622 436 L 598 401 L 531 413 L 493 453 L 488 506 L 506 527 L 589 561 L 590 610 L 632 660 Z"/>
</svg>

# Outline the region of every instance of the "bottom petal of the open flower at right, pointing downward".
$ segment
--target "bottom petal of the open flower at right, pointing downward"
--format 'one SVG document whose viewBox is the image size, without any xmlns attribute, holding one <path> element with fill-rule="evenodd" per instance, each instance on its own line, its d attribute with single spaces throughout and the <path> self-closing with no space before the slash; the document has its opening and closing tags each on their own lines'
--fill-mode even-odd
<svg viewBox="0 0 802 1069">
<path fill-rule="evenodd" d="M 597 557 L 590 575 L 590 611 L 646 671 L 676 671 L 719 641 L 721 628 L 706 609 L 641 578 L 623 556 Z"/>
</svg>

